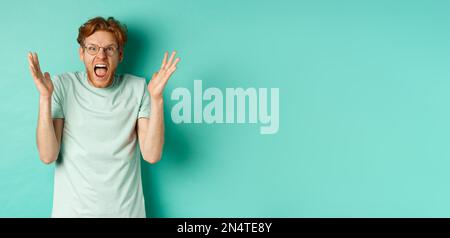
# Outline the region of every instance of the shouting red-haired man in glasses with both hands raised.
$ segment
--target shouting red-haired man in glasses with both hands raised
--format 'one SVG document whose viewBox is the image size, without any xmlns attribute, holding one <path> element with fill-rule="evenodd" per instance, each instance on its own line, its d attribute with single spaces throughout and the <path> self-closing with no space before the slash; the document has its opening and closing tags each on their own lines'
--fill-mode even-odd
<svg viewBox="0 0 450 238">
<path fill-rule="evenodd" d="M 151 164 L 161 159 L 162 95 L 180 59 L 166 52 L 147 86 L 143 78 L 116 74 L 126 40 L 114 18 L 90 19 L 77 39 L 86 72 L 53 79 L 42 73 L 37 54 L 28 54 L 40 94 L 39 157 L 56 161 L 52 217 L 146 216 L 140 152 Z"/>
</svg>

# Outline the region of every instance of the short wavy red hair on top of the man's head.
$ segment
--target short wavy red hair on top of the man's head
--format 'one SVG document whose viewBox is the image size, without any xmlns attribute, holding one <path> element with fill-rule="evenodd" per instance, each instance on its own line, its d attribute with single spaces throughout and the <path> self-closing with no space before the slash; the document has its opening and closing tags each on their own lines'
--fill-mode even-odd
<svg viewBox="0 0 450 238">
<path fill-rule="evenodd" d="M 108 31 L 114 34 L 119 49 L 123 49 L 127 42 L 127 27 L 122 25 L 114 17 L 95 17 L 88 20 L 78 29 L 78 44 L 84 46 L 84 40 L 96 31 Z"/>
</svg>

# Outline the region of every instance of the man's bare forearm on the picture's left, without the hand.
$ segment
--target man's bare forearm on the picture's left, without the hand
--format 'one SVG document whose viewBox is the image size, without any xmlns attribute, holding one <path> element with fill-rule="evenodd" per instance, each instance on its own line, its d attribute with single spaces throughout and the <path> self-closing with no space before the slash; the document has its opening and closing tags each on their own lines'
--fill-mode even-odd
<svg viewBox="0 0 450 238">
<path fill-rule="evenodd" d="M 57 159 L 59 144 L 56 139 L 55 128 L 51 118 L 51 97 L 39 98 L 36 143 L 39 151 L 39 158 L 42 162 L 49 164 Z"/>
</svg>

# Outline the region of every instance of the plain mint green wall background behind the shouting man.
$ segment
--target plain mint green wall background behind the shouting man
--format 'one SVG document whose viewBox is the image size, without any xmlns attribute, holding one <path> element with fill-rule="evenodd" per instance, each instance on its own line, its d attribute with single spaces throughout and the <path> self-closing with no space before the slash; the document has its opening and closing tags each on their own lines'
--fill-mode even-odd
<svg viewBox="0 0 450 238">
<path fill-rule="evenodd" d="M 38 159 L 38 93 L 83 70 L 77 29 L 128 25 L 122 71 L 182 61 L 166 92 L 163 160 L 143 167 L 152 217 L 449 217 L 448 1 L 3 1 L 0 216 L 49 217 L 54 165 Z M 170 92 L 280 88 L 280 129 L 181 124 Z"/>
</svg>

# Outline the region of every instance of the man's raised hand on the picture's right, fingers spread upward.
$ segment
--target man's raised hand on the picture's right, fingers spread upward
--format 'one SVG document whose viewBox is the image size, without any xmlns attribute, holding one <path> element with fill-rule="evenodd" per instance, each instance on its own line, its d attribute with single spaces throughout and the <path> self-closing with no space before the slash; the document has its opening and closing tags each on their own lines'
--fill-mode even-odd
<svg viewBox="0 0 450 238">
<path fill-rule="evenodd" d="M 162 99 L 164 88 L 166 87 L 167 81 L 169 80 L 170 76 L 175 72 L 177 69 L 177 64 L 180 61 L 180 58 L 175 58 L 175 55 L 177 54 L 176 51 L 172 52 L 170 55 L 169 60 L 167 61 L 168 52 L 164 54 L 164 59 L 161 64 L 161 68 L 158 72 L 155 72 L 152 76 L 152 79 L 150 80 L 150 83 L 148 84 L 148 91 L 150 93 L 150 96 L 152 99 Z"/>
</svg>

